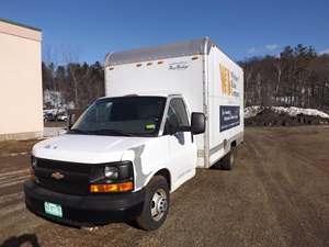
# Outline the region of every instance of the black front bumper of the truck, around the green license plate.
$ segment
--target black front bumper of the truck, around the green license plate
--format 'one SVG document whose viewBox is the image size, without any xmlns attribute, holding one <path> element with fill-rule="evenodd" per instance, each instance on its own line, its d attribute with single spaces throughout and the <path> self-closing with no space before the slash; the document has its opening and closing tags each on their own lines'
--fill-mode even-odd
<svg viewBox="0 0 329 247">
<path fill-rule="evenodd" d="M 26 207 L 49 221 L 75 226 L 103 225 L 111 222 L 126 222 L 140 214 L 144 190 L 113 194 L 72 195 L 53 192 L 33 181 L 24 182 Z M 44 203 L 61 205 L 63 217 L 45 213 Z"/>
</svg>

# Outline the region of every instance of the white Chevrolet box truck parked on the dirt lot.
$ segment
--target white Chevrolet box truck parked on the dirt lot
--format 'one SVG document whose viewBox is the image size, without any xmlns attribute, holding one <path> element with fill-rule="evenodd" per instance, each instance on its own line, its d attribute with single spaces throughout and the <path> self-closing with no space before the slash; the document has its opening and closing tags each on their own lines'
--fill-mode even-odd
<svg viewBox="0 0 329 247">
<path fill-rule="evenodd" d="M 157 229 L 196 167 L 234 167 L 243 71 L 208 38 L 110 53 L 104 71 L 106 97 L 33 147 L 26 206 L 65 224 Z"/>
</svg>

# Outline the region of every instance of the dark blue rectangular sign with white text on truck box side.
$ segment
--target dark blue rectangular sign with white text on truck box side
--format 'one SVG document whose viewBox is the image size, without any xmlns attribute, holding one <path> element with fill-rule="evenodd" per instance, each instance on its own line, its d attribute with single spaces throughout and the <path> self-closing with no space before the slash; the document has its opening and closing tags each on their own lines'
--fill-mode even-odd
<svg viewBox="0 0 329 247">
<path fill-rule="evenodd" d="M 240 106 L 220 105 L 220 127 L 219 131 L 224 132 L 240 124 Z"/>
</svg>

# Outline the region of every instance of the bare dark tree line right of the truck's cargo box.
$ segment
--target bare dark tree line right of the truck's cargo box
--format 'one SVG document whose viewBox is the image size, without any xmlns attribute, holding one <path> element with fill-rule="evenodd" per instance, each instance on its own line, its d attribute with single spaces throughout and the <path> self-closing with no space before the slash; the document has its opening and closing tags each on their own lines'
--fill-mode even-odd
<svg viewBox="0 0 329 247">
<path fill-rule="evenodd" d="M 245 104 L 329 109 L 329 55 L 311 46 L 286 46 L 280 56 L 239 63 L 245 70 Z"/>
</svg>

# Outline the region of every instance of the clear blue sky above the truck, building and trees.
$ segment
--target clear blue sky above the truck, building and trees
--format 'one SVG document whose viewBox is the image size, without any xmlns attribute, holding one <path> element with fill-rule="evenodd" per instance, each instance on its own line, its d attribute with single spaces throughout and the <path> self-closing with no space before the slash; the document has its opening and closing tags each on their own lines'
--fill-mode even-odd
<svg viewBox="0 0 329 247">
<path fill-rule="evenodd" d="M 59 64 L 202 36 L 236 60 L 299 43 L 329 50 L 328 0 L 3 0 L 0 18 L 42 29 L 44 58 Z"/>
</svg>

